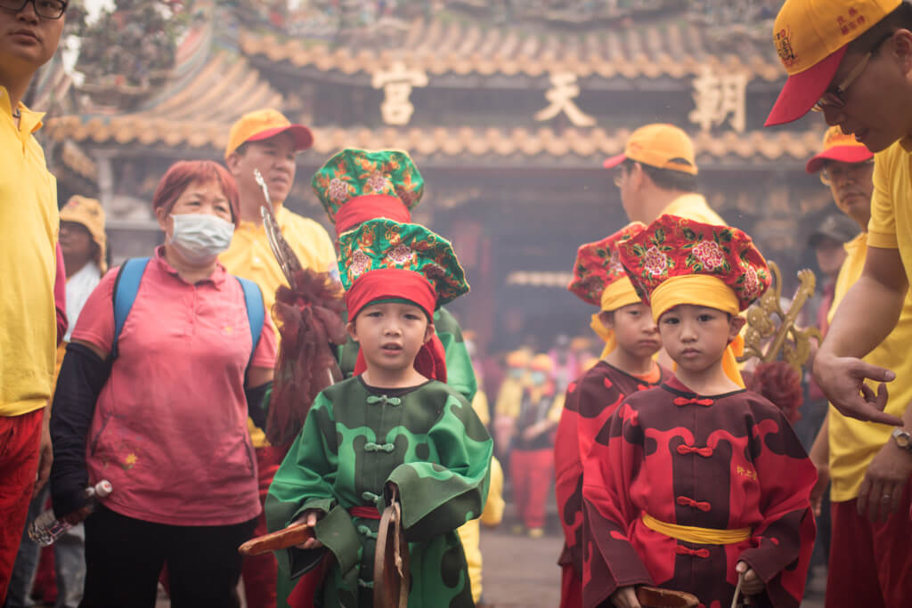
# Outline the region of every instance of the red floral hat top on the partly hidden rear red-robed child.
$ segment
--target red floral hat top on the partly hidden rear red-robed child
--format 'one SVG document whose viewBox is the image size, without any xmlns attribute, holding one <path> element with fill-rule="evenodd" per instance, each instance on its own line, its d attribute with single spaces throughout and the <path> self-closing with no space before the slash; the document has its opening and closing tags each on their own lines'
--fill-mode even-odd
<svg viewBox="0 0 912 608">
<path fill-rule="evenodd" d="M 586 304 L 600 306 L 606 287 L 627 276 L 620 262 L 618 243 L 645 229 L 642 223 L 633 222 L 601 241 L 581 245 L 576 252 L 574 277 L 567 289 Z"/>
</svg>

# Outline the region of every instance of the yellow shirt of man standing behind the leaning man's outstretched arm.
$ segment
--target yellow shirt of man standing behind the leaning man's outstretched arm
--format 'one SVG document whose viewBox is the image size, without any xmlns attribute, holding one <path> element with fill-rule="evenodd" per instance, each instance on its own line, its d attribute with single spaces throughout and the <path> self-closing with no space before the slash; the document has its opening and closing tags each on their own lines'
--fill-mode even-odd
<svg viewBox="0 0 912 608">
<path fill-rule="evenodd" d="M 836 278 L 833 305 L 829 319 L 832 321 L 836 307 L 845 293 L 861 277 L 865 267 L 867 242 L 865 234 L 859 234 L 845 243 L 845 258 L 839 276 Z M 896 372 L 896 380 L 889 384 L 889 400 L 886 412 L 902 416 L 907 404 L 912 401 L 912 358 L 908 346 L 912 344 L 912 293 L 906 297 L 896 327 L 880 345 L 865 356 L 865 362 L 886 367 Z M 876 383 L 869 383 L 876 390 Z M 845 417 L 830 406 L 830 478 L 833 486 L 830 499 L 845 502 L 858 496 L 858 489 L 865 479 L 865 472 L 876 453 L 889 440 L 893 427 L 862 422 Z"/>
</svg>

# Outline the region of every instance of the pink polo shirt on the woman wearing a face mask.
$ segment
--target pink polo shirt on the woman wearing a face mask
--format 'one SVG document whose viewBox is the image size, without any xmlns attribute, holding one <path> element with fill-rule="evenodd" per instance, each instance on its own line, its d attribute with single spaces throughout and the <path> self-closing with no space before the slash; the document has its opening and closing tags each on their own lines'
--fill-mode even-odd
<svg viewBox="0 0 912 608">
<path fill-rule="evenodd" d="M 89 295 L 72 336 L 106 352 L 118 270 Z M 275 332 L 265 317 L 256 367 L 275 365 Z M 160 247 L 120 332 L 119 357 L 88 433 L 88 479 L 114 486 L 106 506 L 181 526 L 229 525 L 260 512 L 244 398 L 252 347 L 240 283 L 221 263 L 209 279 L 186 283 Z"/>
</svg>

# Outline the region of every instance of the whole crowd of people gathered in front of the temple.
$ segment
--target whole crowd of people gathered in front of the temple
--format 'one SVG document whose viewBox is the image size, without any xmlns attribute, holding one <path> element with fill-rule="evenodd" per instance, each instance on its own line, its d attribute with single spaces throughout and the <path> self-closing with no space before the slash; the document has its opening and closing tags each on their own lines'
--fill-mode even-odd
<svg viewBox="0 0 912 608">
<path fill-rule="evenodd" d="M 814 109 L 830 125 L 805 167 L 834 211 L 809 242 L 823 338 L 804 378 L 745 366 L 745 311 L 772 273 L 668 124 L 604 162 L 629 223 L 579 246 L 568 285 L 594 335 L 503 369 L 445 308 L 469 283 L 411 221 L 409 154 L 344 149 L 316 170 L 334 240 L 285 208 L 314 136 L 275 109 L 235 122 L 223 163 L 171 166 L 151 201 L 163 244 L 108 269 L 102 204 L 58 211 L 42 115 L 22 103 L 66 12 L 0 0 L 5 606 L 30 602 L 26 521 L 47 500 L 71 526 L 58 606 L 153 606 L 160 588 L 239 606 L 242 579 L 251 607 L 371 606 L 397 570 L 401 602 L 480 605 L 503 469 L 517 534 L 544 536 L 554 489 L 567 608 L 798 606 L 814 559 L 828 607 L 912 604 L 912 5 L 787 0 L 776 18 L 789 77 L 767 124 Z M 276 259 L 262 207 L 303 270 Z M 113 491 L 93 500 L 101 480 Z M 384 517 L 404 560 L 382 551 Z M 294 540 L 241 556 L 267 533 Z"/>
</svg>

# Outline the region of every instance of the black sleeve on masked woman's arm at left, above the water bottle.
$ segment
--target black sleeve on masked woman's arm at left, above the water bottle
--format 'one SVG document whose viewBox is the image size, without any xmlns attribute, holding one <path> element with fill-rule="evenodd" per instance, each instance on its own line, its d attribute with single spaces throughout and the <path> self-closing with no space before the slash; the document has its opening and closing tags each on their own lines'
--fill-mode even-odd
<svg viewBox="0 0 912 608">
<path fill-rule="evenodd" d="M 88 428 L 110 369 L 110 360 L 103 361 L 88 346 L 67 345 L 67 354 L 57 376 L 50 421 L 54 447 L 51 503 L 57 516 L 72 513 L 86 504 Z"/>
</svg>

